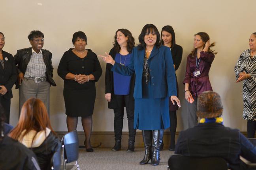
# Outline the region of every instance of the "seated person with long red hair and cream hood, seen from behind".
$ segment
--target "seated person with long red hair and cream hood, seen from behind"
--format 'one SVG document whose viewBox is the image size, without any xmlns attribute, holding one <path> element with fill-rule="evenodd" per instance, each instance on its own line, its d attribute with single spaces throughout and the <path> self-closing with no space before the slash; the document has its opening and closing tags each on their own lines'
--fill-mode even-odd
<svg viewBox="0 0 256 170">
<path fill-rule="evenodd" d="M 60 140 L 51 127 L 47 109 L 41 100 L 30 98 L 24 103 L 19 122 L 9 136 L 36 154 L 42 170 L 51 170 L 51 157 L 60 150 Z"/>
</svg>

